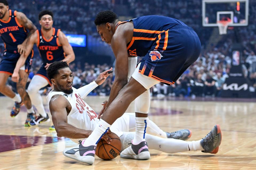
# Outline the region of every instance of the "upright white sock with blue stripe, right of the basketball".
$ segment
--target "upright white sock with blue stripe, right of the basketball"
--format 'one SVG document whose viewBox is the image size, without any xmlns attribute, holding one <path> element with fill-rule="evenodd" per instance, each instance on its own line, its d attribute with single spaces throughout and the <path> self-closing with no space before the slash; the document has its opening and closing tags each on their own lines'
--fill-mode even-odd
<svg viewBox="0 0 256 170">
<path fill-rule="evenodd" d="M 147 117 L 135 117 L 135 136 L 133 139 L 133 144 L 137 145 L 142 141 L 145 141 L 145 134 L 147 128 Z"/>
</svg>

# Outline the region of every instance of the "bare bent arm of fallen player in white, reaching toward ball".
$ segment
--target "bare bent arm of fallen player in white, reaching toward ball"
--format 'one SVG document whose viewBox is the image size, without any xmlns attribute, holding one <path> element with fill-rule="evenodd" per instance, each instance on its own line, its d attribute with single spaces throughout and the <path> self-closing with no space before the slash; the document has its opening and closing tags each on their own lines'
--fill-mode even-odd
<svg viewBox="0 0 256 170">
<path fill-rule="evenodd" d="M 67 123 L 67 109 L 71 109 L 71 105 L 64 96 L 53 96 L 49 102 L 49 108 L 58 137 L 72 139 L 89 137 L 92 131 L 78 129 Z"/>
</svg>

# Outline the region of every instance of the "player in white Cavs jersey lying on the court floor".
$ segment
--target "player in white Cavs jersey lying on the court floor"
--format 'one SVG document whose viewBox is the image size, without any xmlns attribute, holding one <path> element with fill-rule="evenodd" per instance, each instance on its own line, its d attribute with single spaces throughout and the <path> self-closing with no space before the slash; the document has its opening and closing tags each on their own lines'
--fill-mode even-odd
<svg viewBox="0 0 256 170">
<path fill-rule="evenodd" d="M 85 138 L 95 129 L 98 123 L 97 114 L 83 99 L 94 88 L 101 85 L 106 80 L 109 76 L 107 72 L 111 70 L 112 68 L 101 73 L 94 82 L 79 89 L 75 89 L 72 87 L 72 71 L 66 62 L 57 61 L 49 66 L 47 75 L 51 79 L 54 89 L 49 93 L 47 99 L 58 137 L 67 137 L 73 141 L 86 140 Z M 131 143 L 135 133 L 129 131 L 134 129 L 135 113 L 124 114 L 111 126 L 110 130 L 116 133 L 121 139 L 122 150 L 127 148 L 129 143 Z M 154 122 L 149 121 L 145 138 L 149 144 L 149 149 L 166 153 L 202 151 L 215 154 L 218 152 L 218 147 L 221 142 L 221 133 L 217 135 L 217 138 L 214 137 L 217 131 L 218 133 L 220 132 L 219 125 L 215 125 L 210 133 L 203 139 L 198 141 L 183 141 L 191 136 L 189 130 L 166 133 L 155 125 Z M 108 143 L 111 142 L 107 134 L 103 135 L 102 138 Z M 179 140 L 179 138 L 183 140 Z M 65 149 L 63 154 L 69 158 L 93 164 L 94 159 L 91 163 L 88 161 L 91 160 L 91 151 L 90 153 L 86 152 L 87 149 L 91 150 L 91 148 L 85 149 L 86 147 L 84 147 L 82 143 L 76 147 Z M 161 147 L 159 147 L 160 145 Z M 71 153 L 70 150 L 72 150 L 71 152 L 74 154 L 68 154 Z M 94 154 L 95 150 L 93 158 Z"/>
</svg>

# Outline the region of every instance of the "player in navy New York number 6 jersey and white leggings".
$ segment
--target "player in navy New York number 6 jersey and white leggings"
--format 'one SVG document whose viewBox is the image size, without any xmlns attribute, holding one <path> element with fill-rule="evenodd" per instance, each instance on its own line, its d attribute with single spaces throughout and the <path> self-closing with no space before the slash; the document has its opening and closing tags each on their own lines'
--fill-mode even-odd
<svg viewBox="0 0 256 170">
<path fill-rule="evenodd" d="M 26 51 L 31 51 L 33 45 L 37 44 L 39 53 L 41 55 L 43 64 L 38 70 L 37 74 L 32 78 L 29 87 L 27 88 L 29 97 L 32 104 L 37 108 L 39 115 L 28 122 L 28 125 L 38 125 L 41 122 L 49 119 L 48 114 L 45 112 L 43 106 L 43 100 L 38 91 L 47 86 L 51 85 L 50 79 L 46 75 L 46 69 L 54 61 L 67 61 L 70 63 L 75 60 L 75 54 L 71 45 L 69 44 L 67 37 L 61 31 L 53 27 L 53 13 L 48 10 L 41 11 L 39 13 L 39 24 L 41 29 L 34 32 L 28 43 Z M 27 54 L 27 53 L 26 53 Z M 17 82 L 19 79 L 18 70 L 26 61 L 28 55 L 22 55 L 17 62 L 12 75 L 12 80 Z"/>
</svg>

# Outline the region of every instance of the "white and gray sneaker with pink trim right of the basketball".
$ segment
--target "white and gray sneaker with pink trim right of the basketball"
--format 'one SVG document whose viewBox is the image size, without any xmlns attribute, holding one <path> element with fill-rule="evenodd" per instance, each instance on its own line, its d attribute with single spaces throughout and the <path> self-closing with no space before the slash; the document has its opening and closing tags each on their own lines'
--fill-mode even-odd
<svg viewBox="0 0 256 170">
<path fill-rule="evenodd" d="M 146 141 L 142 141 L 138 145 L 131 143 L 129 147 L 120 154 L 121 158 L 147 160 L 150 159 L 149 147 Z"/>
</svg>

